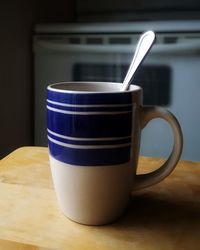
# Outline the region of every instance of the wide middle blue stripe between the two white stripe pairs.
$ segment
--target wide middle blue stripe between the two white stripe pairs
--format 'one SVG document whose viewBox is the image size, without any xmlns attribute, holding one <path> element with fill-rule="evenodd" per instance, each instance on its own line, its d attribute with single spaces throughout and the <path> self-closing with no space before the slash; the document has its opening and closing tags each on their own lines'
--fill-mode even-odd
<svg viewBox="0 0 200 250">
<path fill-rule="evenodd" d="M 48 129 L 82 138 L 131 136 L 132 112 L 113 115 L 74 115 L 47 110 Z"/>
</svg>

